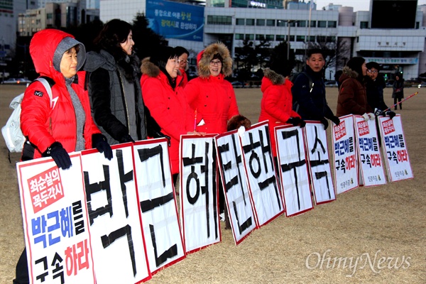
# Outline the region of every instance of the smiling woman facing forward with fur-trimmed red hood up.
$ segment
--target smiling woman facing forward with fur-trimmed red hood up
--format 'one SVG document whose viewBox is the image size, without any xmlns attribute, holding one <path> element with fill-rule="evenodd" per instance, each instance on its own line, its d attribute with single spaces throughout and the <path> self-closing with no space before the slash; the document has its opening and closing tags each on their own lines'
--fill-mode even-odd
<svg viewBox="0 0 426 284">
<path fill-rule="evenodd" d="M 224 133 L 228 121 L 239 114 L 234 89 L 225 80 L 232 73 L 232 58 L 223 43 L 212 43 L 197 55 L 198 76 L 185 86 L 187 101 L 202 121 L 196 130 Z"/>
</svg>

